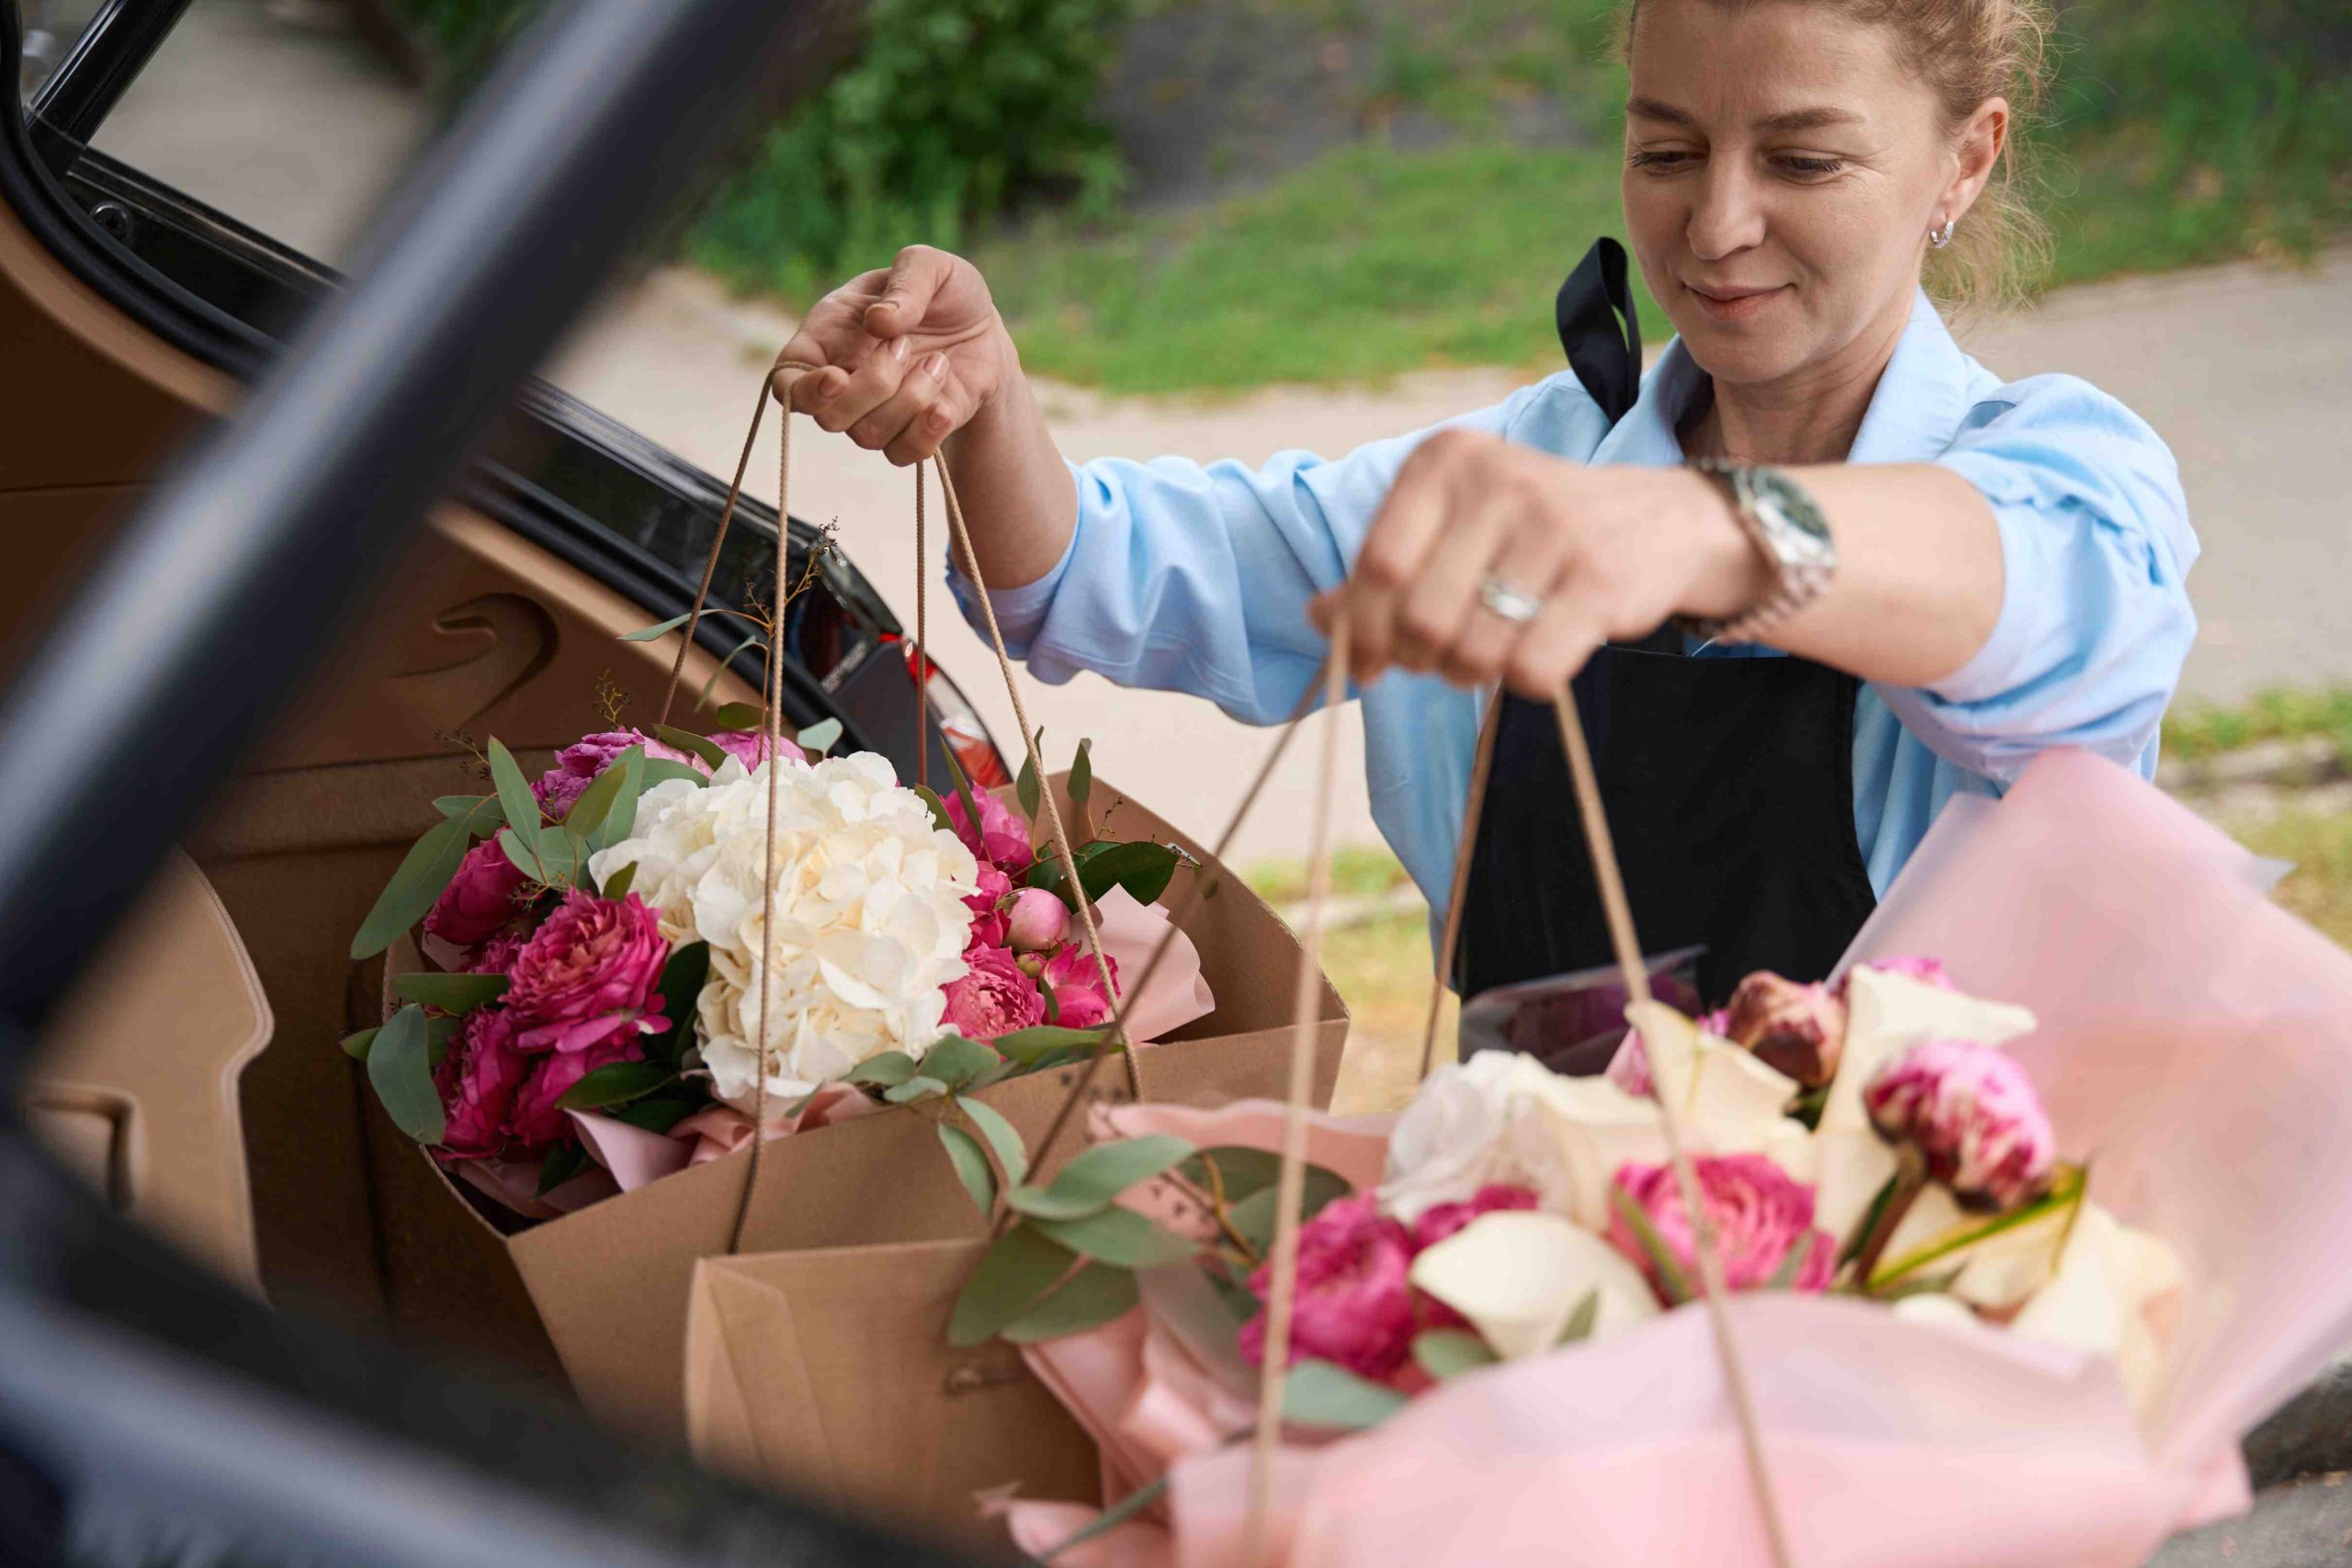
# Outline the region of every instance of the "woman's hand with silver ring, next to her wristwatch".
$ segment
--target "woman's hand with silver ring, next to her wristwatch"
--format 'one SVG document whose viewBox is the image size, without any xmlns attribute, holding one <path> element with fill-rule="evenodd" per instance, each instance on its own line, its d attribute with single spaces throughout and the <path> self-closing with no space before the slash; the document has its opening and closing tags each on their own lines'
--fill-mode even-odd
<svg viewBox="0 0 2352 1568">
<path fill-rule="evenodd" d="M 1494 588 L 1489 588 L 1494 585 Z M 1771 574 L 1719 484 L 1684 468 L 1585 468 L 1475 430 L 1437 430 L 1397 470 L 1352 578 L 1350 675 L 1399 665 L 1548 701 L 1602 642 L 1672 614 L 1733 616 Z M 1526 621 L 1498 614 L 1515 597 Z"/>
</svg>

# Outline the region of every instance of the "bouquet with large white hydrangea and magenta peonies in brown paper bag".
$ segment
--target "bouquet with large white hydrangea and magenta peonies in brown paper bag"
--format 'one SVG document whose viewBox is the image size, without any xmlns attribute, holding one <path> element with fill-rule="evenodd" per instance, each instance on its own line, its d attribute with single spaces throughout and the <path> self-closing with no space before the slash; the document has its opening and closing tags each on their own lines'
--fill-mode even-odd
<svg viewBox="0 0 2352 1568">
<path fill-rule="evenodd" d="M 969 1227 L 938 1147 L 969 1161 L 983 1138 L 1035 1135 L 1056 1070 L 1105 1041 L 1122 973 L 1141 976 L 1169 933 L 1157 900 L 1176 877 L 1216 875 L 1101 785 L 1084 745 L 1063 778 L 1025 766 L 997 795 L 957 776 L 938 797 L 898 785 L 877 755 L 826 757 L 837 724 L 769 757 L 753 722 L 727 708 L 708 736 L 614 726 L 536 780 L 492 741 L 492 792 L 437 802 L 442 825 L 353 943 L 393 957 L 386 1023 L 346 1051 L 388 1124 L 426 1147 L 435 1185 L 468 1197 L 456 1211 L 445 1192 L 426 1229 L 447 1246 L 489 1239 L 581 1396 L 668 1429 L 677 1356 L 642 1347 L 677 1342 L 694 1258 L 727 1248 L 746 1180 L 727 1157 L 750 1147 L 760 1105 L 764 1138 L 783 1140 L 750 1197 L 746 1234 L 762 1246 Z M 1033 846 L 1049 788 L 1073 813 L 1101 811 L 1105 830 L 1075 846 L 1082 891 Z M 1101 954 L 1073 922 L 1080 896 Z M 1249 931 L 1247 893 L 1195 903 L 1209 914 L 1188 917 L 1148 990 L 1124 999 L 1127 1037 L 1195 1041 L 1152 1093 L 1263 1093 L 1270 1074 L 1251 1077 L 1247 1051 L 1202 1020 L 1277 1020 L 1270 997 L 1251 1006 L 1258 985 L 1225 980 L 1268 931 Z M 1218 1006 L 1209 976 L 1242 1006 Z M 447 1234 L 452 1213 L 470 1241 Z"/>
</svg>

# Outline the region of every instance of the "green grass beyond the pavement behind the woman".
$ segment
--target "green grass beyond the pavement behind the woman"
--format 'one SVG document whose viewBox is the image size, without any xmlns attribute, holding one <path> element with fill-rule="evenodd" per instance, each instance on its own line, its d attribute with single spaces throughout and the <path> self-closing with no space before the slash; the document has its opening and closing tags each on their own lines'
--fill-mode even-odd
<svg viewBox="0 0 2352 1568">
<path fill-rule="evenodd" d="M 1517 146 L 1498 115 L 1526 92 L 1621 101 L 1623 75 L 1597 59 L 1611 12 L 1463 0 L 1385 28 L 1367 115 L 1425 108 L 1456 125 L 1449 146 L 1367 141 L 1195 212 L 1042 219 L 981 242 L 1023 362 L 1112 393 L 1548 364 L 1552 282 L 1621 226 L 1613 127 L 1597 146 Z M 2042 132 L 2049 282 L 2307 256 L 2352 228 L 2343 31 L 2281 0 L 2070 7 Z"/>
</svg>

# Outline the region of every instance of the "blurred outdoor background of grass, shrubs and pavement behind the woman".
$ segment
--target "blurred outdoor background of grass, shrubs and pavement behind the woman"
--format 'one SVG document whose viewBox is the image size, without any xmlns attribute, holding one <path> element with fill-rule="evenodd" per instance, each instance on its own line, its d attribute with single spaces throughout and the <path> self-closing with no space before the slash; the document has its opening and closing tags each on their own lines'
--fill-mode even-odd
<svg viewBox="0 0 2352 1568">
<path fill-rule="evenodd" d="M 94 9 L 26 5 L 26 94 Z M 195 0 L 96 146 L 336 263 L 534 9 Z M 724 475 L 793 313 L 929 242 L 990 277 L 1073 458 L 1336 456 L 1555 369 L 1552 289 L 1618 228 L 1616 35 L 1613 0 L 873 0 L 826 92 L 680 190 L 546 376 Z M 2284 898 L 2352 940 L 2352 7 L 2082 0 L 2053 49 L 2044 294 L 1962 339 L 2089 376 L 2180 456 L 2204 632 L 2161 783 L 2296 860 Z M 910 477 L 800 440 L 793 510 L 910 616 Z M 1009 738 L 981 642 L 934 625 L 934 649 Z M 1094 677 L 1030 705 L 1051 752 L 1091 736 L 1202 837 L 1270 741 Z M 1305 773 L 1242 842 L 1277 898 Z M 1425 910 L 1357 778 L 1331 971 L 1371 1041 L 1416 1037 Z"/>
</svg>

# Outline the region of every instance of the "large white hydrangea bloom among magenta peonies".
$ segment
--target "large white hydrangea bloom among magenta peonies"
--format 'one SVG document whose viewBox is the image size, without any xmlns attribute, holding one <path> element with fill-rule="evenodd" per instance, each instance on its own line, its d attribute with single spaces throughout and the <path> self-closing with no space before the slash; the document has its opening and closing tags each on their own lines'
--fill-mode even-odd
<svg viewBox="0 0 2352 1568">
<path fill-rule="evenodd" d="M 943 1027 L 941 990 L 964 973 L 971 851 L 873 752 L 786 762 L 776 837 L 769 1095 L 809 1093 L 882 1051 L 922 1056 Z M 597 882 L 635 865 L 630 891 L 661 912 L 661 933 L 710 943 L 703 1063 L 713 1093 L 739 1110 L 757 1084 L 764 853 L 767 766 L 746 773 L 729 757 L 708 785 L 647 790 L 635 837 L 588 863 Z"/>
</svg>

